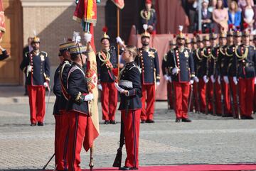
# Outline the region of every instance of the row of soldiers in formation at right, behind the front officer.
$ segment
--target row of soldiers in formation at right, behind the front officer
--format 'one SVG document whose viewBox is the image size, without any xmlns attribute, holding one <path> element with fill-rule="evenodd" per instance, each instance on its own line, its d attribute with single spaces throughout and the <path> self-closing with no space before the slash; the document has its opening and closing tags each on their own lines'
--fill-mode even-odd
<svg viewBox="0 0 256 171">
<path fill-rule="evenodd" d="M 177 45 L 179 39 L 177 36 Z M 195 81 L 191 84 L 189 110 L 253 119 L 252 111 L 256 106 L 256 50 L 250 45 L 250 31 L 230 29 L 228 33 L 222 31 L 219 36 L 213 32 L 204 36 L 198 34 L 193 38 L 193 42 L 185 36 L 183 40 L 192 56 L 192 67 L 195 69 L 194 73 L 188 70 Z M 162 70 L 164 78 L 168 80 L 169 107 L 178 110 L 178 106 L 172 103 L 176 98 L 172 95 L 172 90 L 175 91 L 172 86 L 176 80 L 171 73 L 171 65 L 175 61 L 178 63 L 180 53 L 177 52 L 180 48 L 176 48 L 174 44 L 174 41 L 171 41 L 171 50 L 164 57 Z M 177 75 L 182 81 L 182 73 L 178 72 Z"/>
</svg>

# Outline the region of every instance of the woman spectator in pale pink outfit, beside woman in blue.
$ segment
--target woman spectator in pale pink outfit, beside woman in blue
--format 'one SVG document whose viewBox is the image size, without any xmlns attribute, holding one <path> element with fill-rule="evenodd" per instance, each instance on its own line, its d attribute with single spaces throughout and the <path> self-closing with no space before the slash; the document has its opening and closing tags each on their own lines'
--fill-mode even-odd
<svg viewBox="0 0 256 171">
<path fill-rule="evenodd" d="M 223 0 L 218 0 L 216 8 L 213 10 L 213 28 L 215 33 L 220 33 L 223 28 L 228 31 L 228 10 L 224 9 Z"/>
</svg>

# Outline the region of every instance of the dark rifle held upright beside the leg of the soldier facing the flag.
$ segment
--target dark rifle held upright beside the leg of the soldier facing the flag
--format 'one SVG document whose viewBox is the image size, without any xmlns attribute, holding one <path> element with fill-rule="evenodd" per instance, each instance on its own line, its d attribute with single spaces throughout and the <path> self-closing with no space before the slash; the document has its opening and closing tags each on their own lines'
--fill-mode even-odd
<svg viewBox="0 0 256 171">
<path fill-rule="evenodd" d="M 129 111 L 129 100 L 127 100 L 127 105 L 125 109 L 125 116 L 127 116 Z M 121 116 L 121 131 L 120 131 L 120 141 L 119 141 L 119 148 L 117 149 L 117 155 L 114 159 L 113 167 L 121 167 L 122 164 L 122 147 L 124 146 L 124 121 L 122 120 Z"/>
</svg>

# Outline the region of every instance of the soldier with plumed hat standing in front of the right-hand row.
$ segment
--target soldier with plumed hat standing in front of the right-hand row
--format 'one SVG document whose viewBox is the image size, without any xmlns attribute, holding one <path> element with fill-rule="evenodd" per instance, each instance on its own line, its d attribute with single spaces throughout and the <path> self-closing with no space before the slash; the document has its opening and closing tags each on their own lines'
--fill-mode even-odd
<svg viewBox="0 0 256 171">
<path fill-rule="evenodd" d="M 167 58 L 169 74 L 174 82 L 176 122 L 191 122 L 188 118 L 188 96 L 195 70 L 191 50 L 184 47 L 185 35 L 182 33 L 182 28 L 176 41 L 178 47 L 174 48 L 174 53 L 168 53 Z"/>
</svg>

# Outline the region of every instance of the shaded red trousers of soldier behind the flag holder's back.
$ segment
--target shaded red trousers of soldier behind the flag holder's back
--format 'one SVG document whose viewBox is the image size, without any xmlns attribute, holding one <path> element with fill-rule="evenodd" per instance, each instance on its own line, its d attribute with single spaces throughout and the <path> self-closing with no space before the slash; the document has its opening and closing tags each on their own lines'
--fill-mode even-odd
<svg viewBox="0 0 256 171">
<path fill-rule="evenodd" d="M 55 165 L 56 170 L 68 168 L 68 114 L 55 115 Z"/>
</svg>

